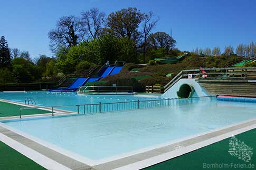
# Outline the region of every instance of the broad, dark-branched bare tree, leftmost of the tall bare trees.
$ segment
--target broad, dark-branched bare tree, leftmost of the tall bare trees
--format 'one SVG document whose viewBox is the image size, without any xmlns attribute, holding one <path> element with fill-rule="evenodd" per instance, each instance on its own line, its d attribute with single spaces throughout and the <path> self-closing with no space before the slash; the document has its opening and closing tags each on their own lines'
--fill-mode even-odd
<svg viewBox="0 0 256 170">
<path fill-rule="evenodd" d="M 85 34 L 82 22 L 78 17 L 63 16 L 57 22 L 56 28 L 48 33 L 50 48 L 52 52 L 56 52 L 60 46 L 76 46 L 84 40 Z"/>
</svg>

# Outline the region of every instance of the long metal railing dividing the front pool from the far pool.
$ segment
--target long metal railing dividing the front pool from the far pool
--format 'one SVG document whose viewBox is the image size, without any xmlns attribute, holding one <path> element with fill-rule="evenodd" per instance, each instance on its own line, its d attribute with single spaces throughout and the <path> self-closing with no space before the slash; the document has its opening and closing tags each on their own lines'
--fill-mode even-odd
<svg viewBox="0 0 256 170">
<path fill-rule="evenodd" d="M 126 101 L 126 102 L 113 102 L 113 103 L 96 103 L 96 104 L 78 104 L 78 105 L 63 105 L 63 106 L 40 106 L 40 107 L 22 107 L 19 110 L 20 118 L 22 118 L 22 110 L 24 109 L 45 109 L 51 108 L 52 116 L 54 116 L 54 108 L 56 107 L 77 107 L 77 113 L 92 114 L 92 113 L 103 113 L 103 112 L 115 112 L 115 111 L 126 111 L 131 109 L 146 109 L 153 107 L 163 106 L 179 106 L 183 104 L 192 104 L 193 102 L 199 101 L 212 101 L 217 96 L 202 96 L 202 97 L 190 97 L 190 98 L 164 98 L 164 99 L 153 99 L 146 101 Z M 83 107 L 81 109 L 81 107 Z"/>
</svg>

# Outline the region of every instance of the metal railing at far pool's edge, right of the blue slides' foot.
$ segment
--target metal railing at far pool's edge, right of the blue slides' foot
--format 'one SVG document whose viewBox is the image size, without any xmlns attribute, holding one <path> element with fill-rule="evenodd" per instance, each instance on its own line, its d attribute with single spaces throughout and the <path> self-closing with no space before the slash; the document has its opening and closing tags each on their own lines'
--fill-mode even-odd
<svg viewBox="0 0 256 170">
<path fill-rule="evenodd" d="M 82 86 L 79 88 L 78 93 L 120 93 L 120 92 L 133 92 L 132 86 Z"/>
</svg>

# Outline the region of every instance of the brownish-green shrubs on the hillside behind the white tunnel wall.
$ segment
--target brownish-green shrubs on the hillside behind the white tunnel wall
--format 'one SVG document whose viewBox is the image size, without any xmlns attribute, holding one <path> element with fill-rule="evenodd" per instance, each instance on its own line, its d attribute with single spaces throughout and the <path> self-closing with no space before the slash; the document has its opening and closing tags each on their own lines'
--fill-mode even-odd
<svg viewBox="0 0 256 170">
<path fill-rule="evenodd" d="M 239 61 L 240 57 L 200 57 L 187 56 L 177 64 L 160 64 L 154 66 L 140 66 L 137 64 L 126 64 L 120 73 L 107 76 L 101 80 L 116 82 L 117 79 L 132 78 L 138 76 L 151 76 L 141 79 L 140 83 L 147 84 L 166 84 L 182 69 L 199 68 L 205 64 L 206 67 L 224 67 L 227 63 Z M 141 67 L 141 68 L 140 68 Z M 140 68 L 140 72 L 130 72 L 132 68 Z M 168 73 L 172 73 L 172 77 L 166 77 Z"/>
</svg>

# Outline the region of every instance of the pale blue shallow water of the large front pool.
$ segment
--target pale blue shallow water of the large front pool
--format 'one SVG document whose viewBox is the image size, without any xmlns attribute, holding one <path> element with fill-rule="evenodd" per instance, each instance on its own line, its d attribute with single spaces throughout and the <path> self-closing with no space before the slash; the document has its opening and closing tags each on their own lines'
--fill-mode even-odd
<svg viewBox="0 0 256 170">
<path fill-rule="evenodd" d="M 98 160 L 247 121 L 255 110 L 252 103 L 212 101 L 4 124 Z"/>
</svg>

